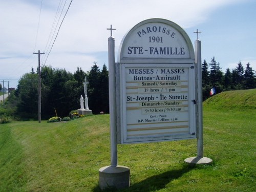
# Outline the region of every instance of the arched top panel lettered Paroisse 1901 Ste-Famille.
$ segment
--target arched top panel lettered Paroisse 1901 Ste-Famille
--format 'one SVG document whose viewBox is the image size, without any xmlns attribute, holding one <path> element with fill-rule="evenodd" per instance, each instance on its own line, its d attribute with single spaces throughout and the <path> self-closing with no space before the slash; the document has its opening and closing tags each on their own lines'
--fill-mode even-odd
<svg viewBox="0 0 256 192">
<path fill-rule="evenodd" d="M 165 24 L 141 26 L 131 38 L 133 41 L 124 46 L 124 57 L 189 57 L 185 41 L 179 40 L 182 38 L 181 34 Z"/>
</svg>

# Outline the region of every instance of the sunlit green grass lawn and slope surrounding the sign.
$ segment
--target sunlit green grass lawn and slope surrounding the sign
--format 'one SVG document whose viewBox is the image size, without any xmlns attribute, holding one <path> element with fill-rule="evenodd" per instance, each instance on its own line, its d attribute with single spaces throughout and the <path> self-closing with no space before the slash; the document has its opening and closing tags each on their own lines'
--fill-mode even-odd
<svg viewBox="0 0 256 192">
<path fill-rule="evenodd" d="M 204 102 L 204 156 L 191 168 L 196 140 L 118 145 L 131 169 L 119 191 L 256 191 L 256 90 L 224 92 Z M 98 169 L 110 165 L 109 115 L 70 122 L 0 124 L 0 191 L 100 191 Z"/>
</svg>

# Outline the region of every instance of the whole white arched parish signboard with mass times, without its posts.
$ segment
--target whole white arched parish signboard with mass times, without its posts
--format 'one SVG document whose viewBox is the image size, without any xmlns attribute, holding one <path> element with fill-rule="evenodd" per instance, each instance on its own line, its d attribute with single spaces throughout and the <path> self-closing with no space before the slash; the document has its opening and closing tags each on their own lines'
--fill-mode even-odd
<svg viewBox="0 0 256 192">
<path fill-rule="evenodd" d="M 196 137 L 194 50 L 179 30 L 166 20 L 151 20 L 124 38 L 120 143 Z"/>
</svg>

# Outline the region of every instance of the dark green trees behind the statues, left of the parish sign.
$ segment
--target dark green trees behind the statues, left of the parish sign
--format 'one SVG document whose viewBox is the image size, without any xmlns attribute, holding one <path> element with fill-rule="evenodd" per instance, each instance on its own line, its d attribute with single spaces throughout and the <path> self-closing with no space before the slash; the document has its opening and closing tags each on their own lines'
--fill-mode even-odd
<svg viewBox="0 0 256 192">
<path fill-rule="evenodd" d="M 51 66 L 41 68 L 41 118 L 66 117 L 71 111 L 80 109 L 80 96 L 84 98 L 84 78 L 89 81 L 87 96 L 93 114 L 109 113 L 109 74 L 105 64 L 102 70 L 94 62 L 91 71 L 77 68 L 75 73 Z M 23 75 L 8 103 L 12 113 L 20 119 L 38 118 L 38 69 Z"/>
</svg>

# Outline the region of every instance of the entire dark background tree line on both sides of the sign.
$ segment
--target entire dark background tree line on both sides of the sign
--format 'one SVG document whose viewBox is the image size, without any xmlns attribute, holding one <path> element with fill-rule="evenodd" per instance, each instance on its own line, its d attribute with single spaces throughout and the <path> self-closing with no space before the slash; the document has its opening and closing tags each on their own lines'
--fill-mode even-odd
<svg viewBox="0 0 256 192">
<path fill-rule="evenodd" d="M 109 113 L 109 71 L 103 65 L 100 70 L 96 62 L 91 70 L 84 72 L 77 68 L 75 73 L 51 66 L 41 68 L 41 118 L 66 117 L 73 110 L 80 109 L 80 96 L 84 97 L 84 78 L 89 81 L 88 104 L 93 114 Z M 244 68 L 239 62 L 235 69 L 221 71 L 215 57 L 208 64 L 202 63 L 203 100 L 210 97 L 210 90 L 216 93 L 229 90 L 256 88 L 256 76 L 250 63 Z M 8 98 L 9 112 L 20 119 L 38 118 L 38 69 L 23 75 L 17 89 Z"/>
</svg>

